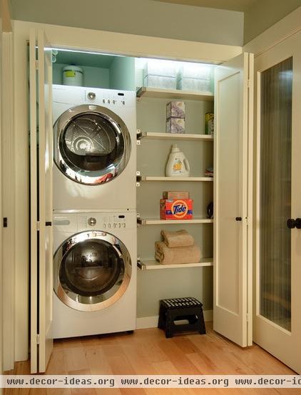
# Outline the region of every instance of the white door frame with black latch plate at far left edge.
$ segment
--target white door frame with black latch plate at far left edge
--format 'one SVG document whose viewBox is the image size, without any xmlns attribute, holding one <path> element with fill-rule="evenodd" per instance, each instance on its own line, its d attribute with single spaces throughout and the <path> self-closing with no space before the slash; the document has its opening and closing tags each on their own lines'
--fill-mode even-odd
<svg viewBox="0 0 301 395">
<path fill-rule="evenodd" d="M 14 76 L 9 1 L 1 1 L 1 371 L 14 368 Z M 3 217 L 8 226 L 3 227 Z M 3 265 L 3 262 L 6 265 Z M 3 301 L 3 302 L 2 302 Z"/>
</svg>

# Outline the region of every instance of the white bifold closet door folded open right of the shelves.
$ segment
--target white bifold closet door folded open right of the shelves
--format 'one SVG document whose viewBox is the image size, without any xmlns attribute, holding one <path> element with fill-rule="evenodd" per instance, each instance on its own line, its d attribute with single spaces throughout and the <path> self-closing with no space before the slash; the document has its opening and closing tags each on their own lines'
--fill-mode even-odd
<svg viewBox="0 0 301 395">
<path fill-rule="evenodd" d="M 253 55 L 215 71 L 213 329 L 252 344 Z"/>
</svg>

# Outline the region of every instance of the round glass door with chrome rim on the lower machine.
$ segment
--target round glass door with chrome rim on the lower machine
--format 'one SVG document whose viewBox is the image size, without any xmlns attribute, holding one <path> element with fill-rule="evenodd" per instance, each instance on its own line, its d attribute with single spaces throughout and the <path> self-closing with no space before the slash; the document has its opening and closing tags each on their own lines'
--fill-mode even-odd
<svg viewBox="0 0 301 395">
<path fill-rule="evenodd" d="M 68 307 L 96 311 L 115 303 L 131 279 L 126 246 L 106 232 L 73 235 L 53 257 L 53 289 Z"/>
</svg>

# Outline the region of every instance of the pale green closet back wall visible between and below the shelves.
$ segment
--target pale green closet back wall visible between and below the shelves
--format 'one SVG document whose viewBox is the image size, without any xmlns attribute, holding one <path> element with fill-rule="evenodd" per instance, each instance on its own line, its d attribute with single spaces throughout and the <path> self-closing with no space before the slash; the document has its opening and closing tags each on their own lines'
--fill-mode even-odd
<svg viewBox="0 0 301 395">
<path fill-rule="evenodd" d="M 142 97 L 137 103 L 137 127 L 146 132 L 165 132 L 166 104 L 170 99 Z M 185 100 L 186 133 L 205 133 L 205 113 L 213 111 L 213 102 Z M 142 175 L 163 176 L 172 140 L 142 139 L 137 146 L 137 169 Z M 213 142 L 180 141 L 180 150 L 190 163 L 191 175 L 201 176 L 213 165 Z M 159 218 L 163 190 L 188 190 L 194 200 L 195 217 L 206 217 L 208 203 L 213 201 L 213 183 L 180 181 L 141 182 L 137 188 L 137 211 L 141 217 Z M 160 230 L 187 230 L 200 247 L 201 257 L 213 256 L 213 224 L 180 224 L 139 226 L 138 255 L 141 260 L 155 259 L 155 241 Z M 159 300 L 172 297 L 196 297 L 204 310 L 213 309 L 213 268 L 196 267 L 138 271 L 137 317 L 158 314 Z"/>
</svg>

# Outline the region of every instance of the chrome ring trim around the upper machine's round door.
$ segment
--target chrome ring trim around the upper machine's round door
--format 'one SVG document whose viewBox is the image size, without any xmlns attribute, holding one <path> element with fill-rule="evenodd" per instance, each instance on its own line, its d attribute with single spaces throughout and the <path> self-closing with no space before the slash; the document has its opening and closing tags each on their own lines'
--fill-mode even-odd
<svg viewBox="0 0 301 395">
<path fill-rule="evenodd" d="M 71 121 L 81 115 L 97 115 L 108 120 L 116 132 L 116 141 L 123 140 L 124 150 L 121 155 L 106 169 L 88 171 L 78 168 L 63 154 L 62 144 L 64 132 Z M 99 185 L 114 180 L 120 175 L 128 164 L 131 156 L 131 135 L 123 120 L 106 107 L 83 104 L 69 108 L 58 117 L 53 125 L 53 160 L 58 169 L 66 177 L 76 183 L 84 185 Z"/>
</svg>

